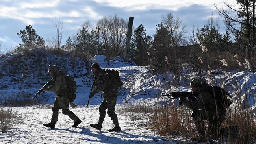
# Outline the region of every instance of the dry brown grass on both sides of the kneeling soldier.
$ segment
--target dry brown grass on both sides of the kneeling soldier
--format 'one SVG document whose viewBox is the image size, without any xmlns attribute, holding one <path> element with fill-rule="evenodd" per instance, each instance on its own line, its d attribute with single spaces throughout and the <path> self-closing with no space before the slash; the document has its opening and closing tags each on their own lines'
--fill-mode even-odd
<svg viewBox="0 0 256 144">
<path fill-rule="evenodd" d="M 173 103 L 173 104 L 170 104 Z M 147 119 L 147 127 L 150 127 L 161 136 L 184 138 L 195 135 L 195 124 L 190 112 L 185 106 L 178 106 L 176 102 L 165 99 L 162 104 L 147 105 L 134 103 L 122 107 L 119 111 L 128 115 L 132 120 Z M 227 109 L 226 120 L 222 124 L 222 137 L 219 141 L 231 144 L 254 144 L 256 142 L 256 121 L 254 113 L 250 109 L 244 109 L 241 103 L 233 103 Z M 206 122 L 207 124 L 207 122 Z M 237 126 L 237 131 L 233 127 Z M 207 129 L 206 125 L 206 129 Z M 224 128 L 225 127 L 225 128 Z M 206 135 L 208 137 L 208 135 Z M 187 140 L 187 139 L 186 139 Z"/>
</svg>

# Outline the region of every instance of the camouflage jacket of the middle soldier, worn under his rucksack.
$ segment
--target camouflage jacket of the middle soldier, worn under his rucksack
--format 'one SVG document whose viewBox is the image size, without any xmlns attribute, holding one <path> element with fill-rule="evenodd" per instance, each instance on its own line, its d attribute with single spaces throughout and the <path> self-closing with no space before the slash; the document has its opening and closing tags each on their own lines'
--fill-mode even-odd
<svg viewBox="0 0 256 144">
<path fill-rule="evenodd" d="M 95 77 L 94 86 L 97 88 L 93 92 L 98 93 L 105 90 L 111 90 L 111 79 L 104 70 L 100 68 L 95 74 Z"/>
</svg>

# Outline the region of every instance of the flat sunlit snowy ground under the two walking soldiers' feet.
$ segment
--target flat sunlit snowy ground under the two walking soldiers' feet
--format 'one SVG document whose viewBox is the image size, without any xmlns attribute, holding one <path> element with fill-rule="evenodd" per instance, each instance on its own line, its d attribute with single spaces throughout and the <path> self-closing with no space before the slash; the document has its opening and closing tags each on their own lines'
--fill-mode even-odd
<svg viewBox="0 0 256 144">
<path fill-rule="evenodd" d="M 119 106 L 117 106 L 118 108 Z M 0 144 L 165 144 L 173 143 L 158 137 L 153 131 L 146 129 L 140 122 L 131 121 L 125 114 L 117 113 L 121 132 L 108 132 L 113 128 L 113 122 L 106 115 L 102 130 L 98 131 L 89 126 L 98 121 L 98 106 L 90 105 L 71 109 L 82 123 L 76 127 L 71 127 L 73 120 L 67 115 L 59 112 L 59 119 L 55 129 L 43 126 L 43 123 L 50 122 L 52 111 L 50 108 L 15 107 L 14 112 L 21 114 L 22 123 L 15 124 L 10 133 L 0 134 Z"/>
</svg>

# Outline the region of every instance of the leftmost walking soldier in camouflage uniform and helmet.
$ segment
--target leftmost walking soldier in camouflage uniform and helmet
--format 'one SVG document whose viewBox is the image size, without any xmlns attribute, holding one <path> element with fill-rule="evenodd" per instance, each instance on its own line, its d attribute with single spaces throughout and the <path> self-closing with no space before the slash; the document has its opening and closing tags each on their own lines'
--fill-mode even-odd
<svg viewBox="0 0 256 144">
<path fill-rule="evenodd" d="M 69 110 L 69 88 L 67 86 L 67 81 L 65 79 L 65 73 L 58 68 L 56 65 L 49 65 L 48 72 L 52 76 L 52 81 L 50 87 L 43 88 L 44 91 L 54 92 L 57 96 L 52 107 L 52 119 L 48 124 L 43 124 L 46 127 L 55 128 L 55 124 L 58 121 L 59 109 L 62 113 L 68 115 L 72 120 L 74 120 L 74 125 L 72 127 L 77 127 L 81 120 Z"/>
</svg>

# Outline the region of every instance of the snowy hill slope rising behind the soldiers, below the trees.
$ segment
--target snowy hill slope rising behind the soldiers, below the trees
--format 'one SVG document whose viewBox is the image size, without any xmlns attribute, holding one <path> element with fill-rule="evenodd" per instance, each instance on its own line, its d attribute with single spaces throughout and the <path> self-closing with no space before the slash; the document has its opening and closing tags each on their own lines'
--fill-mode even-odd
<svg viewBox="0 0 256 144">
<path fill-rule="evenodd" d="M 137 66 L 132 61 L 126 62 L 122 57 L 115 57 L 114 60 L 107 60 L 106 56 L 96 55 L 91 59 L 83 61 L 78 57 L 70 57 L 67 52 L 59 55 L 43 49 L 6 54 L 0 57 L 0 97 L 2 101 L 8 100 L 30 100 L 49 79 L 48 65 L 57 65 L 65 70 L 67 74 L 74 76 L 77 85 L 77 98 L 74 103 L 85 105 L 91 90 L 93 76 L 90 71 L 92 63 L 99 63 L 101 68 L 118 70 L 125 87 L 119 90 L 118 103 L 124 100 L 152 99 L 160 96 L 162 92 L 186 92 L 189 91 L 189 82 L 197 76 L 192 68 L 184 65 L 180 77 L 180 84 L 174 86 L 172 74 L 157 74 L 150 72 L 148 66 Z M 225 87 L 234 100 L 238 95 L 248 98 L 245 101 L 249 107 L 255 107 L 256 72 L 211 70 L 202 72 L 205 80 L 211 85 Z M 98 105 L 101 102 L 100 94 L 97 94 L 90 101 L 91 105 Z M 53 103 L 55 95 L 52 92 L 45 92 L 38 96 L 37 100 L 42 103 Z"/>
</svg>

